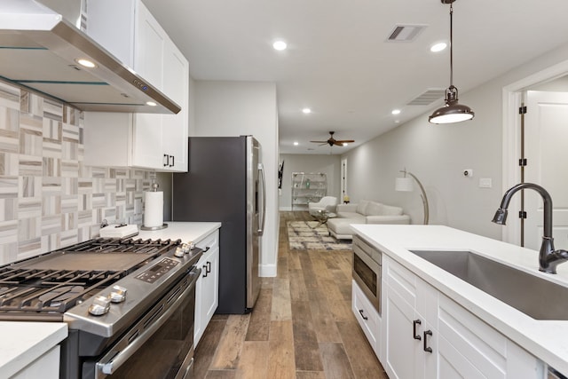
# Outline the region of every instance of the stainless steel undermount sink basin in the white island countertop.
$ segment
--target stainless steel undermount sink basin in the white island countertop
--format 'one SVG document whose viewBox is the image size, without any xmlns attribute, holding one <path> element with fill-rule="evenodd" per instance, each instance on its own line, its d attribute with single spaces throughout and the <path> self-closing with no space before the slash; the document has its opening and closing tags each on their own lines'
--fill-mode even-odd
<svg viewBox="0 0 568 379">
<path fill-rule="evenodd" d="M 466 250 L 410 250 L 536 320 L 568 320 L 568 288 Z"/>
</svg>

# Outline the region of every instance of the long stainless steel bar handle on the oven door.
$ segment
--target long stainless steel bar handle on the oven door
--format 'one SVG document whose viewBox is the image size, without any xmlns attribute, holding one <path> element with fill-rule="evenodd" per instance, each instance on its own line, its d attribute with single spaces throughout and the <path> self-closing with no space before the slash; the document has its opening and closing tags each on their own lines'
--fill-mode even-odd
<svg viewBox="0 0 568 379">
<path fill-rule="evenodd" d="M 162 327 L 162 325 L 170 319 L 173 312 L 177 311 L 179 305 L 183 303 L 185 296 L 189 296 L 193 288 L 195 287 L 195 282 L 199 278 L 201 270 L 197 272 L 192 272 L 192 279 L 189 285 L 184 289 L 181 295 L 177 296 L 176 301 L 170 305 L 170 308 L 163 312 L 162 315 L 155 320 L 152 325 L 142 332 L 132 343 L 130 343 L 122 351 L 109 351 L 99 362 L 96 363 L 97 371 L 95 374 L 96 378 L 104 378 L 106 375 L 112 375 L 114 372 L 124 364 L 146 341 L 154 335 L 154 333 Z M 166 296 L 169 297 L 169 296 Z"/>
</svg>

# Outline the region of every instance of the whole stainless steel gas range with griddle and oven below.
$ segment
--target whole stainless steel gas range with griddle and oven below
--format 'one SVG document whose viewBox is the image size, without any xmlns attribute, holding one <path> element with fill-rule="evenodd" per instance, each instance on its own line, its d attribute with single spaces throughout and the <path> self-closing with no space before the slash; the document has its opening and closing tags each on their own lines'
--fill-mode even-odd
<svg viewBox="0 0 568 379">
<path fill-rule="evenodd" d="M 0 320 L 67 322 L 61 379 L 187 379 L 201 255 L 179 240 L 99 238 L 0 266 Z"/>
</svg>

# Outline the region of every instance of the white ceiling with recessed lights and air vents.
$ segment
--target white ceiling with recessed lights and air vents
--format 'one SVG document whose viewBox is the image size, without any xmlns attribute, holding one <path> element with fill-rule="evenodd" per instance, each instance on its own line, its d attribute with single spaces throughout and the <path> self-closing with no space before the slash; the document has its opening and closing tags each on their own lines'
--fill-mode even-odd
<svg viewBox="0 0 568 379">
<path fill-rule="evenodd" d="M 143 1 L 194 79 L 276 83 L 282 154 L 342 154 L 440 107 L 442 99 L 406 103 L 449 85 L 449 51 L 430 52 L 449 40 L 449 5 L 440 0 Z M 568 0 L 457 0 L 454 85 L 463 94 L 568 43 L 566 15 Z M 396 25 L 426 28 L 414 42 L 386 42 Z M 288 50 L 274 51 L 275 39 Z M 309 142 L 328 130 L 356 143 Z"/>
</svg>

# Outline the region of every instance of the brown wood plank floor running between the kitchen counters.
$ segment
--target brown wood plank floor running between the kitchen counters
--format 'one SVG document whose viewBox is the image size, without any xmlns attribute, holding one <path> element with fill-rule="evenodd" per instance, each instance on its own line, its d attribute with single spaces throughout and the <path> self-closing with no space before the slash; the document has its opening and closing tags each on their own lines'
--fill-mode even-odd
<svg viewBox="0 0 568 379">
<path fill-rule="evenodd" d="M 277 277 L 250 314 L 213 317 L 194 377 L 388 379 L 351 312 L 351 251 L 288 249 L 286 223 L 311 219 L 280 212 Z"/>
</svg>

